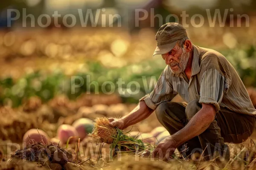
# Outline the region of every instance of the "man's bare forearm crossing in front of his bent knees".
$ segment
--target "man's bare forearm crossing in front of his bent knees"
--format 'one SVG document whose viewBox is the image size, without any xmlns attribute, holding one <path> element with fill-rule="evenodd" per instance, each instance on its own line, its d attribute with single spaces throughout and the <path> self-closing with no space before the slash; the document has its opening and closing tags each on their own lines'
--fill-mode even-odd
<svg viewBox="0 0 256 170">
<path fill-rule="evenodd" d="M 203 133 L 214 120 L 214 116 L 215 113 L 213 114 L 208 109 L 202 108 L 195 114 L 195 116 L 192 117 L 183 129 L 172 135 L 172 139 L 175 141 L 177 146 L 180 146 L 193 137 Z"/>
</svg>

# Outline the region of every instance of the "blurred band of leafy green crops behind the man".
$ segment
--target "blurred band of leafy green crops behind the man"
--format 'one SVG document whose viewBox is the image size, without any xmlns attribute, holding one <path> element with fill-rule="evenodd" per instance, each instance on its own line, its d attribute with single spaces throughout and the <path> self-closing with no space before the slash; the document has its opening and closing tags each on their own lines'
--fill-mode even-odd
<svg viewBox="0 0 256 170">
<path fill-rule="evenodd" d="M 246 86 L 256 87 L 256 48 L 220 51 L 236 68 Z M 150 93 L 165 68 L 163 59 L 156 57 L 145 62 L 122 68 L 106 68 L 99 62 L 86 63 L 86 71 L 67 77 L 61 71 L 45 74 L 36 71 L 14 80 L 0 79 L 0 105 L 11 101 L 12 107 L 21 105 L 22 100 L 39 96 L 47 102 L 55 95 L 65 94 L 76 99 L 81 94 L 118 93 L 123 102 L 137 103 Z M 123 83 L 119 83 L 119 82 Z"/>
</svg>

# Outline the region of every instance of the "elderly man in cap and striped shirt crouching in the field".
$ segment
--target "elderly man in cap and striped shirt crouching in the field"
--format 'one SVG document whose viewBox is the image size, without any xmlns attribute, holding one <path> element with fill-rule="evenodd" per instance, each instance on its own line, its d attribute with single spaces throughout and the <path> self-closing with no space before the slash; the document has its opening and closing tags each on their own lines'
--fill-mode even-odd
<svg viewBox="0 0 256 170">
<path fill-rule="evenodd" d="M 155 111 L 171 136 L 153 156 L 169 159 L 177 148 L 183 156 L 217 154 L 228 161 L 224 142 L 241 143 L 256 127 L 256 110 L 239 75 L 222 54 L 193 45 L 178 23 L 161 26 L 156 40 L 154 55 L 162 55 L 166 68 L 151 94 L 127 116 L 110 118 L 110 125 L 125 129 Z M 187 104 L 170 102 L 176 94 Z"/>
</svg>

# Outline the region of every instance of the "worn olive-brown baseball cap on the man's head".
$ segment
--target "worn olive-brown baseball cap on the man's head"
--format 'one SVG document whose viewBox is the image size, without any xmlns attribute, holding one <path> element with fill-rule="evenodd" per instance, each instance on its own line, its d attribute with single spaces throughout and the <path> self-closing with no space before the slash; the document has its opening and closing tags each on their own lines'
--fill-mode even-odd
<svg viewBox="0 0 256 170">
<path fill-rule="evenodd" d="M 166 54 L 172 50 L 177 41 L 187 37 L 186 28 L 179 23 L 166 23 L 159 28 L 156 34 L 157 48 L 154 51 L 156 54 Z"/>
</svg>

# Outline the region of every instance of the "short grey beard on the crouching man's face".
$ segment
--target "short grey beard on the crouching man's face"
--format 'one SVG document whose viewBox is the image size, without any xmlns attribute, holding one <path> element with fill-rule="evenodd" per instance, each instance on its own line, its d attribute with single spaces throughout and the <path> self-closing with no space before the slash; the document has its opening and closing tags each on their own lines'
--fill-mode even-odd
<svg viewBox="0 0 256 170">
<path fill-rule="evenodd" d="M 186 65 L 189 61 L 189 52 L 186 52 L 185 48 L 182 48 L 182 54 L 180 55 L 178 60 L 180 61 L 180 63 L 178 63 L 177 61 L 173 61 L 169 64 L 171 67 L 174 67 L 176 65 L 175 68 L 171 68 L 171 71 L 174 74 L 182 73 L 186 69 Z"/>
</svg>

